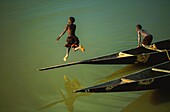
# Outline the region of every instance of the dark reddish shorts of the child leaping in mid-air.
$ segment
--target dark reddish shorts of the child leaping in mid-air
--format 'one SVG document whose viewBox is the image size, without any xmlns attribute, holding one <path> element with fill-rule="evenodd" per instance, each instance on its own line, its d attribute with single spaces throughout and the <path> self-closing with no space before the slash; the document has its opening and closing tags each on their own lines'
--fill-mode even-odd
<svg viewBox="0 0 170 112">
<path fill-rule="evenodd" d="M 67 44 L 65 45 L 65 47 L 79 46 L 79 39 L 76 36 L 67 37 L 66 41 L 67 41 Z"/>
</svg>

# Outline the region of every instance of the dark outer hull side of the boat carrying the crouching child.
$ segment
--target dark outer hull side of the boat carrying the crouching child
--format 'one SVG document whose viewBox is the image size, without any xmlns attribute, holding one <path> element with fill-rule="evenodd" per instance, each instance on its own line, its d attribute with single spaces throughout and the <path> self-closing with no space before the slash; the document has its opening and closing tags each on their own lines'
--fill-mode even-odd
<svg viewBox="0 0 170 112">
<path fill-rule="evenodd" d="M 147 64 L 158 64 L 169 60 L 170 50 L 164 52 L 150 52 L 142 53 L 133 56 L 118 57 L 110 56 L 107 58 L 101 59 L 90 59 L 82 61 L 81 64 L 138 64 L 138 63 L 147 63 Z"/>
</svg>

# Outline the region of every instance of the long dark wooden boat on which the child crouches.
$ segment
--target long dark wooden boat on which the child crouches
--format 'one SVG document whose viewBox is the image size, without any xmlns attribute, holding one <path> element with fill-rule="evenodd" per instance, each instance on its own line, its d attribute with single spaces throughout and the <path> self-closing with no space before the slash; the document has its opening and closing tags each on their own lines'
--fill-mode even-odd
<svg viewBox="0 0 170 112">
<path fill-rule="evenodd" d="M 39 71 L 72 66 L 77 64 L 158 64 L 169 60 L 170 40 L 154 43 L 151 47 L 139 47 L 111 55 L 92 58 L 84 61 L 71 62 L 38 69 Z"/>
</svg>

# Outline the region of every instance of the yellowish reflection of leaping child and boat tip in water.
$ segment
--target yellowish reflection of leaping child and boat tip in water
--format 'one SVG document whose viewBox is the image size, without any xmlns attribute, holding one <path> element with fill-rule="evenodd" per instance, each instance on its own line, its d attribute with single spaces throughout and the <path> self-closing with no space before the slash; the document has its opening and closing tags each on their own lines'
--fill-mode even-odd
<svg viewBox="0 0 170 112">
<path fill-rule="evenodd" d="M 76 99 L 79 98 L 80 96 L 89 95 L 88 93 L 73 93 L 74 90 L 83 88 L 83 86 L 80 85 L 80 82 L 77 79 L 73 79 L 71 81 L 70 79 L 68 79 L 66 75 L 64 75 L 64 80 L 65 80 L 65 89 L 66 89 L 67 97 L 63 94 L 63 92 L 60 89 L 58 89 L 58 92 L 63 97 L 63 99 L 60 101 L 49 103 L 41 107 L 40 110 L 48 109 L 59 103 L 65 103 L 65 105 L 67 106 L 68 112 L 73 112 L 74 102 L 76 101 Z"/>
</svg>

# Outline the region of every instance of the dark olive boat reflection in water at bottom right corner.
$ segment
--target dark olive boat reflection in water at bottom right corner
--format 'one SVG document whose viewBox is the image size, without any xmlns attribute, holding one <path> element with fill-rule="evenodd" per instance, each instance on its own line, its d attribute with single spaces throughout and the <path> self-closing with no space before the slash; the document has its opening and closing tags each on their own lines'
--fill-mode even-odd
<svg viewBox="0 0 170 112">
<path fill-rule="evenodd" d="M 146 91 L 121 112 L 168 112 L 170 110 L 169 78 L 160 82 L 159 89 Z"/>
</svg>

